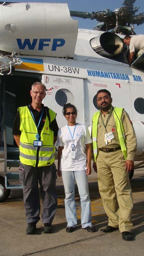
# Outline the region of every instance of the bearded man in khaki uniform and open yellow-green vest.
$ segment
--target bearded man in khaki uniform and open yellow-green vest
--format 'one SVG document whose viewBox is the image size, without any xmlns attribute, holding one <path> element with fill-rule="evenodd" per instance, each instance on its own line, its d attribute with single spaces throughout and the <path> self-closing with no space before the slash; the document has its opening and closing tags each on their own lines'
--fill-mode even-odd
<svg viewBox="0 0 144 256">
<path fill-rule="evenodd" d="M 112 106 L 108 90 L 96 94 L 100 111 L 92 117 L 94 171 L 108 226 L 101 231 L 117 229 L 124 240 L 132 240 L 132 190 L 128 172 L 134 168 L 136 136 L 129 115 L 123 108 Z"/>
</svg>

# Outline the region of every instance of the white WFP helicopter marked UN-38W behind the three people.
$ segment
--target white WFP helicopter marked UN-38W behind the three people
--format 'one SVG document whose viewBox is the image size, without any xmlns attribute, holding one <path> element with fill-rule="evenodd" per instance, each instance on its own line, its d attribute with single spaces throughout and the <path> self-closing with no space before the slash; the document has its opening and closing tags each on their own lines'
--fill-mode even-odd
<svg viewBox="0 0 144 256">
<path fill-rule="evenodd" d="M 10 195 L 19 173 L 19 149 L 12 126 L 17 108 L 31 101 L 31 85 L 46 86 L 44 105 L 57 113 L 63 126 L 62 107 L 71 102 L 79 113 L 77 122 L 91 129 L 92 115 L 99 110 L 96 93 L 108 89 L 113 105 L 131 117 L 137 137 L 134 169 L 144 165 L 144 56 L 128 64 L 125 34 L 135 35 L 133 24 L 143 24 L 136 15 L 135 0 L 125 0 L 114 12 L 69 11 L 67 4 L 0 2 L 0 202 Z M 72 17 L 96 19 L 94 29 L 78 29 Z M 133 171 L 130 173 L 130 178 Z M 11 184 L 9 184 L 11 181 Z"/>
</svg>

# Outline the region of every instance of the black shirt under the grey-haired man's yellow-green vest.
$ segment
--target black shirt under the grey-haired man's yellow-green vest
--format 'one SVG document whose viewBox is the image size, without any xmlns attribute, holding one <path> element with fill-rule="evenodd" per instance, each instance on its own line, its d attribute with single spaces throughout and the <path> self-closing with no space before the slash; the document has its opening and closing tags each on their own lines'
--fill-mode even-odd
<svg viewBox="0 0 144 256">
<path fill-rule="evenodd" d="M 44 123 L 45 123 L 45 119 L 46 119 L 46 111 L 45 111 L 45 108 L 44 108 L 44 104 L 42 104 L 42 109 L 39 112 L 36 109 L 34 109 L 31 106 L 31 104 L 28 105 L 28 109 L 33 113 L 33 116 L 34 116 L 34 119 L 35 119 L 35 122 L 36 122 L 36 126 L 38 125 L 41 114 L 42 114 L 42 111 L 44 110 L 41 121 L 40 121 L 40 124 L 38 126 L 38 133 L 40 135 L 40 133 L 41 133 L 43 127 L 44 127 Z M 52 128 L 52 131 L 53 131 L 53 136 L 57 136 L 59 127 L 58 127 L 56 119 L 54 119 L 52 121 L 51 128 Z M 20 112 L 19 111 L 17 112 L 17 114 L 15 116 L 15 119 L 14 119 L 12 134 L 18 134 L 18 135 L 21 134 L 21 131 L 20 131 Z"/>
</svg>

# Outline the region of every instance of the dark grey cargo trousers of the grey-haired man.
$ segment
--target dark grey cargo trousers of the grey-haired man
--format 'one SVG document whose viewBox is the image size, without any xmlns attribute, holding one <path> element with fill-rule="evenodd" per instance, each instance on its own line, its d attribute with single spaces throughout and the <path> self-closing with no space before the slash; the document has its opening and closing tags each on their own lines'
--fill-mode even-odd
<svg viewBox="0 0 144 256">
<path fill-rule="evenodd" d="M 57 209 L 55 164 L 33 167 L 20 163 L 20 182 L 23 185 L 24 207 L 28 223 L 40 220 L 40 199 L 38 182 L 42 196 L 42 221 L 52 223 Z"/>
</svg>

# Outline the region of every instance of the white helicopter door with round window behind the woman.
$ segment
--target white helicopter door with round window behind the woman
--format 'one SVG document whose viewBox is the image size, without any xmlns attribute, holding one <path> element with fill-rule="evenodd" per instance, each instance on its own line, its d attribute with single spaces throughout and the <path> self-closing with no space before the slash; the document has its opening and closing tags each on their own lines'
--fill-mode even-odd
<svg viewBox="0 0 144 256">
<path fill-rule="evenodd" d="M 43 75 L 46 86 L 44 105 L 57 113 L 58 126 L 67 124 L 62 114 L 64 104 L 71 103 L 78 110 L 77 122 L 84 124 L 84 79 L 76 77 Z"/>
</svg>

